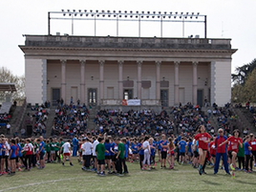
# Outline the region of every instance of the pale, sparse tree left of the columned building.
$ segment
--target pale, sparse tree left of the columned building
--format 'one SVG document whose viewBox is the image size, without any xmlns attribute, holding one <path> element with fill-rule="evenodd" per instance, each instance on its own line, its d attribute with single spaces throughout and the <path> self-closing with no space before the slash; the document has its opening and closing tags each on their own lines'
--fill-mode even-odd
<svg viewBox="0 0 256 192">
<path fill-rule="evenodd" d="M 11 71 L 5 67 L 0 68 L 0 82 L 1 83 L 14 83 L 17 92 L 12 94 L 13 100 L 23 100 L 25 99 L 25 76 L 13 75 Z M 3 98 L 7 93 L 0 93 Z"/>
</svg>

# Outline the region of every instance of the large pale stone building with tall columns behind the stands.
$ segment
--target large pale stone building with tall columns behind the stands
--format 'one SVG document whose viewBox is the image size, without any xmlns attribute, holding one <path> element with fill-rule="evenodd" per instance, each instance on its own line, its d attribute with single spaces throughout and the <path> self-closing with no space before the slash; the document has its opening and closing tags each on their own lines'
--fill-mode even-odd
<svg viewBox="0 0 256 192">
<path fill-rule="evenodd" d="M 173 106 L 231 98 L 231 39 L 26 35 L 28 103 Z"/>
</svg>

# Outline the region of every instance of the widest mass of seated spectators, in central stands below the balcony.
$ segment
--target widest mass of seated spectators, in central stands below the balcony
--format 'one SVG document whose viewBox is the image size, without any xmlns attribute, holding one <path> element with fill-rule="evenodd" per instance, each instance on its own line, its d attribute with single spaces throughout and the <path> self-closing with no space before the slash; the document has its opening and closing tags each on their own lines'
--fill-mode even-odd
<svg viewBox="0 0 256 192">
<path fill-rule="evenodd" d="M 196 133 L 199 125 L 204 124 L 208 131 L 212 129 L 210 121 L 200 106 L 191 103 L 172 107 L 160 113 L 153 110 L 101 110 L 96 114 L 95 134 L 108 133 L 119 136 L 158 136 L 160 133 L 173 135 L 184 132 L 185 135 Z"/>
</svg>

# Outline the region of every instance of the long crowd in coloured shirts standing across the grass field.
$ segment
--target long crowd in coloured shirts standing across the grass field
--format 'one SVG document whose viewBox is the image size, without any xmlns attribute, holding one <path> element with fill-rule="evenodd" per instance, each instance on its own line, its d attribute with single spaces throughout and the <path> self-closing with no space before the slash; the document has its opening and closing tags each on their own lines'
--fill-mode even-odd
<svg viewBox="0 0 256 192">
<path fill-rule="evenodd" d="M 224 130 L 219 129 L 216 136 L 205 132 L 203 125 L 198 133 L 190 138 L 182 133 L 178 137 L 160 138 L 140 136 L 139 138 L 114 138 L 107 136 L 81 135 L 78 140 L 77 152 L 68 139 L 6 139 L 1 136 L 0 143 L 0 174 L 14 175 L 16 170 L 28 170 L 32 167 L 45 168 L 47 162 L 66 160 L 73 166 L 73 156 L 78 155 L 83 171 L 94 171 L 99 176 L 128 174 L 127 161 L 139 161 L 141 170 L 156 168 L 156 157 L 160 168 L 174 169 L 175 160 L 179 163 L 192 164 L 198 168 L 199 174 L 206 174 L 206 164 L 214 167 L 214 174 L 219 171 L 220 163 L 226 174 L 230 170 L 244 170 L 251 173 L 256 160 L 256 139 L 253 134 L 240 138 L 239 130 L 234 130 L 232 136 L 224 136 Z M 75 150 L 75 151 L 74 151 Z M 72 153 L 73 152 L 73 153 Z M 239 164 L 237 166 L 236 161 Z M 253 164 L 254 161 L 254 164 Z M 167 165 L 168 163 L 168 165 Z M 24 167 L 24 169 L 21 169 Z"/>
</svg>

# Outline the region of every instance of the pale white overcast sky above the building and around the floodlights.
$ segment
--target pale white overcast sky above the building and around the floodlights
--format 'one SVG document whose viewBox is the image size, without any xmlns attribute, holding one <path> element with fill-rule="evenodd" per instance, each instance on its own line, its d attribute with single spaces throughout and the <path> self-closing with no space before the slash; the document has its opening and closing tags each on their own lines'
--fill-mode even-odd
<svg viewBox="0 0 256 192">
<path fill-rule="evenodd" d="M 93 11 L 172 11 L 200 12 L 207 15 L 208 38 L 231 38 L 233 49 L 232 73 L 236 67 L 256 58 L 256 8 L 255 0 L 10 0 L 0 1 L 0 67 L 7 67 L 14 75 L 24 75 L 24 53 L 18 45 L 24 45 L 22 34 L 47 34 L 48 11 L 93 10 Z M 71 21 L 53 20 L 51 33 L 72 34 Z M 94 22 L 75 21 L 75 35 L 94 35 Z M 120 22 L 119 36 L 138 36 L 137 22 Z M 96 35 L 117 34 L 116 23 L 99 21 Z M 203 37 L 203 24 L 185 24 L 184 37 L 199 34 Z M 160 37 L 160 24 L 141 23 L 141 36 Z M 182 37 L 182 26 L 164 23 L 163 36 Z"/>
</svg>

